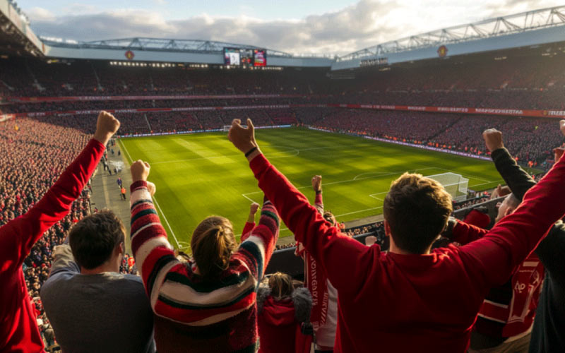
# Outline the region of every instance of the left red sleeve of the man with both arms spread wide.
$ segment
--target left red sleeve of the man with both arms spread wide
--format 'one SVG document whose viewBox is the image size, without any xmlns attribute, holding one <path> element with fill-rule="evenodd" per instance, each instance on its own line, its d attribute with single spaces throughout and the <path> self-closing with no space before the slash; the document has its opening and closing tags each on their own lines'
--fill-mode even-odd
<svg viewBox="0 0 565 353">
<path fill-rule="evenodd" d="M 328 279 L 338 290 L 355 291 L 366 279 L 367 270 L 373 268 L 373 252 L 378 246 L 364 246 L 332 227 L 310 205 L 283 174 L 263 156 L 250 162 L 259 188 L 275 205 L 281 219 L 295 234 L 295 239 L 311 253 L 326 271 Z M 340 261 L 335 261 L 339 259 Z"/>
</svg>

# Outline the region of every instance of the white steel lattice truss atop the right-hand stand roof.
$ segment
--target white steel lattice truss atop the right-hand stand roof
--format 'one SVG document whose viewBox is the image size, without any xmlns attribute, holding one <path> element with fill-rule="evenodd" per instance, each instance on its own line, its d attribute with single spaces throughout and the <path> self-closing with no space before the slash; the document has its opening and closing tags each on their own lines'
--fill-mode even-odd
<svg viewBox="0 0 565 353">
<path fill-rule="evenodd" d="M 408 52 L 414 49 L 439 47 L 442 44 L 468 42 L 472 40 L 499 37 L 513 33 L 540 30 L 565 25 L 565 6 L 541 8 L 539 10 L 516 13 L 510 16 L 489 18 L 467 25 L 433 30 L 421 35 L 411 35 L 400 40 L 375 45 L 340 56 L 338 61 L 358 59 L 364 56 L 379 56 L 390 53 Z"/>
</svg>

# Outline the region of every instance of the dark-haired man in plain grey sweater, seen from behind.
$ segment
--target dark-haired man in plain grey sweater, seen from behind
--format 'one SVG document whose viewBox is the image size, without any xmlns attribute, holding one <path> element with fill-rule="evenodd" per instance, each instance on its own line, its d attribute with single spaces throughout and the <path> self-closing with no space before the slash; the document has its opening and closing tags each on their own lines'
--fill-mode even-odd
<svg viewBox="0 0 565 353">
<path fill-rule="evenodd" d="M 63 352 L 155 352 L 143 281 L 119 273 L 125 232 L 117 215 L 102 210 L 55 248 L 41 299 Z"/>
</svg>

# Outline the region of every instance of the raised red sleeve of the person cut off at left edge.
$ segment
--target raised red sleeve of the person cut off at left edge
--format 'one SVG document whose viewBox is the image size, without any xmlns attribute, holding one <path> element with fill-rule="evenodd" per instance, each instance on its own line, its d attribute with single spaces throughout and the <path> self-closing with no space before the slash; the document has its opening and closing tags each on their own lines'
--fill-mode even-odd
<svg viewBox="0 0 565 353">
<path fill-rule="evenodd" d="M 81 195 L 93 174 L 104 149 L 102 143 L 95 139 L 90 140 L 38 203 L 24 215 L 0 228 L 2 273 L 16 270 L 30 253 L 35 241 L 69 213 L 73 201 Z"/>
</svg>

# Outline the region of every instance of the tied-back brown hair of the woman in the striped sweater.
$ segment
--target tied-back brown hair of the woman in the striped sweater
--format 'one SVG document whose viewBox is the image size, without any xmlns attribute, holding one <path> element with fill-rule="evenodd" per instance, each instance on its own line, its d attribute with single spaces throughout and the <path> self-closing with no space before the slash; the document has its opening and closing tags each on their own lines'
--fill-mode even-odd
<svg viewBox="0 0 565 353">
<path fill-rule="evenodd" d="M 232 223 L 227 218 L 211 216 L 200 222 L 192 233 L 192 257 L 204 278 L 212 278 L 230 265 L 237 248 Z"/>
</svg>

